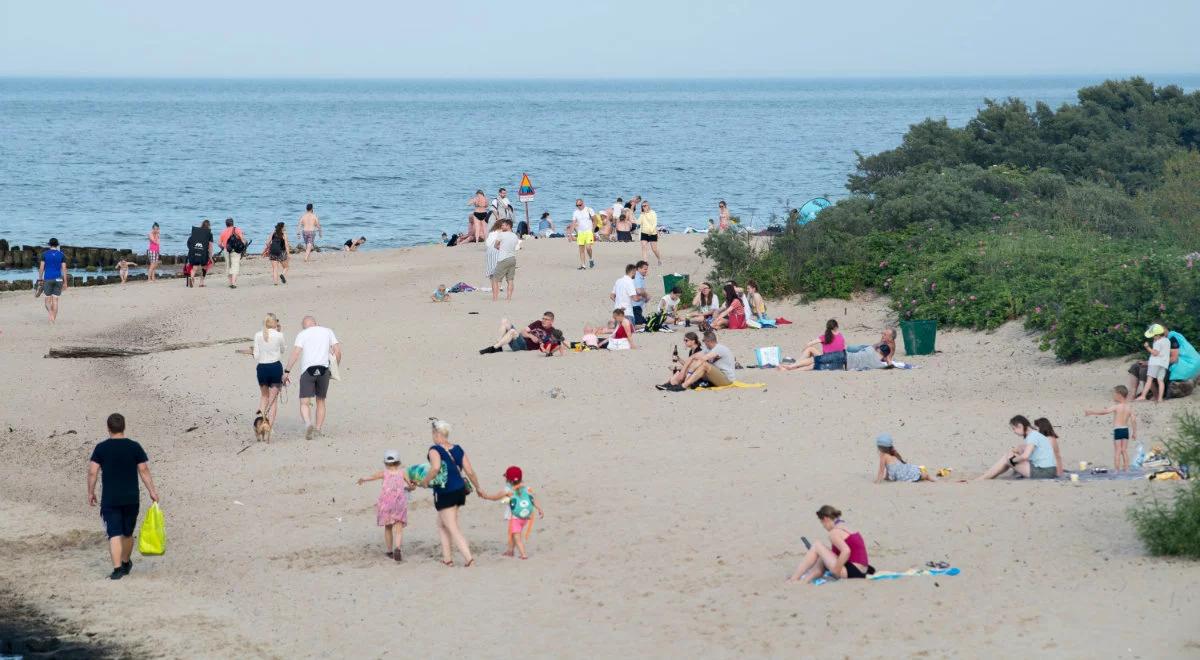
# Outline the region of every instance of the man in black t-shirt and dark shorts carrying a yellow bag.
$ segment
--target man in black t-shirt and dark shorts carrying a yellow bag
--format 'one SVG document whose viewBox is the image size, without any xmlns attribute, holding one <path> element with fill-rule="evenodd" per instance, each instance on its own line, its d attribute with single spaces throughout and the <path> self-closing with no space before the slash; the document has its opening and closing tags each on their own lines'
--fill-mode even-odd
<svg viewBox="0 0 1200 660">
<path fill-rule="evenodd" d="M 96 505 L 96 478 L 101 476 L 100 517 L 108 532 L 108 551 L 113 556 L 109 580 L 120 580 L 133 570 L 133 528 L 138 524 L 138 478 L 146 486 L 151 502 L 158 491 L 150 478 L 150 458 L 142 445 L 125 437 L 125 416 L 108 415 L 108 439 L 97 444 L 88 463 L 88 504 Z"/>
</svg>

